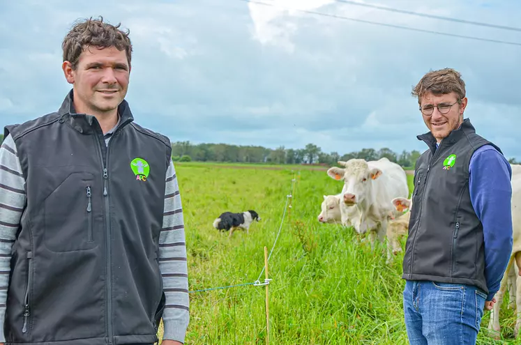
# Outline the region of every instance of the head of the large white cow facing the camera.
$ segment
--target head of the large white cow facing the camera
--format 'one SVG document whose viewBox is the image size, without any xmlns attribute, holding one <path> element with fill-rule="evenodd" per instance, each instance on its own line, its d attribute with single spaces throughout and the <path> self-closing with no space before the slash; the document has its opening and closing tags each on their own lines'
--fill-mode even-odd
<svg viewBox="0 0 521 345">
<path fill-rule="evenodd" d="M 382 170 L 371 168 L 365 160 L 356 158 L 338 163 L 344 167 L 330 168 L 327 174 L 335 180 L 344 181 L 342 199 L 346 205 L 361 203 L 370 194 L 372 181 L 382 175 Z"/>
</svg>

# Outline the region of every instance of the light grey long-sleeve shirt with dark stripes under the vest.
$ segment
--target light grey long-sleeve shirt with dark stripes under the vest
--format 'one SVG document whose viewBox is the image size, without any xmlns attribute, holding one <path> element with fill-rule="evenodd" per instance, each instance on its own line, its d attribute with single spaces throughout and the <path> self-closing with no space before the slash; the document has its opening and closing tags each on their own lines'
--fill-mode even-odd
<svg viewBox="0 0 521 345">
<path fill-rule="evenodd" d="M 109 139 L 107 137 L 107 144 Z M 172 161 L 167 169 L 165 181 L 163 229 L 159 238 L 159 268 L 166 296 L 163 339 L 184 342 L 189 321 L 188 265 L 183 208 Z M 8 135 L 0 146 L 0 325 L 3 325 L 6 313 L 11 249 L 26 200 L 20 159 L 15 142 Z M 5 342 L 3 332 L 0 332 L 0 342 Z"/>
</svg>

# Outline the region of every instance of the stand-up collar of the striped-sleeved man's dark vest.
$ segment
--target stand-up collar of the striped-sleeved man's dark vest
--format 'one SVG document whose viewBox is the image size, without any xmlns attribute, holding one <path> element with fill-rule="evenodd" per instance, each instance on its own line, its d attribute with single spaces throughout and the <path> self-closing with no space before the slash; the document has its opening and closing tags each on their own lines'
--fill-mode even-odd
<svg viewBox="0 0 521 345">
<path fill-rule="evenodd" d="M 134 116 L 132 112 L 130 112 L 130 107 L 126 100 L 123 100 L 119 104 L 118 113 L 119 125 L 116 128 L 116 130 L 114 130 L 114 134 L 116 132 L 119 132 L 121 128 L 128 125 L 128 123 L 134 121 Z M 92 132 L 96 131 L 96 128 L 98 128 L 98 130 L 101 130 L 100 124 L 98 123 L 98 120 L 95 116 L 87 114 L 78 114 L 76 112 L 73 102 L 73 89 L 71 89 L 67 93 L 66 98 L 61 103 L 61 107 L 58 110 L 58 114 L 60 116 L 60 123 L 67 122 L 71 128 L 77 130 L 77 132 L 80 132 L 82 134 L 91 134 Z"/>
</svg>

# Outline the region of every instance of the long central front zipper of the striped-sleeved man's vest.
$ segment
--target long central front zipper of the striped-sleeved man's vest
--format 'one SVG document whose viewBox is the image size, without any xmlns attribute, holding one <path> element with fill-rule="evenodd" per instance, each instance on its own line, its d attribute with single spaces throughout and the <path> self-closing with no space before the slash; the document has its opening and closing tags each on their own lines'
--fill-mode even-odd
<svg viewBox="0 0 521 345">
<path fill-rule="evenodd" d="M 115 133 L 114 133 L 115 134 Z M 103 168 L 103 202 L 105 204 L 105 243 L 107 247 L 107 337 L 109 341 L 109 345 L 113 344 L 113 330 L 112 330 L 112 262 L 111 262 L 111 231 L 110 231 L 110 204 L 109 204 L 109 192 L 108 192 L 108 162 L 109 162 L 109 152 L 110 152 L 110 142 L 114 140 L 114 135 L 109 141 L 109 144 L 106 146 L 107 155 L 106 161 L 103 161 L 103 153 L 101 152 L 101 143 L 100 139 L 94 135 L 94 140 L 96 141 L 96 147 L 98 148 L 98 155 L 100 156 L 101 166 Z M 105 144 L 105 140 L 103 140 Z"/>
</svg>

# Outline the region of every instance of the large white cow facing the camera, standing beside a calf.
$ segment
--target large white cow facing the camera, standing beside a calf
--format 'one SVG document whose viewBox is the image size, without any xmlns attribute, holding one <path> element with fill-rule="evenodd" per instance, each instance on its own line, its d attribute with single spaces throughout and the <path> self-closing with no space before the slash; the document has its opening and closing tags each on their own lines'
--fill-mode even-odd
<svg viewBox="0 0 521 345">
<path fill-rule="evenodd" d="M 366 162 L 362 159 L 339 161 L 344 167 L 332 167 L 327 174 L 343 181 L 342 199 L 345 205 L 355 206 L 358 215 L 352 218 L 356 232 L 369 232 L 371 248 L 375 239 L 384 242 L 389 214 L 395 212 L 390 200 L 409 196 L 407 176 L 400 165 L 387 158 Z"/>
</svg>

